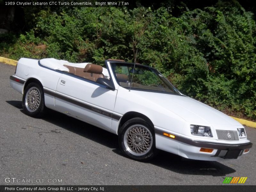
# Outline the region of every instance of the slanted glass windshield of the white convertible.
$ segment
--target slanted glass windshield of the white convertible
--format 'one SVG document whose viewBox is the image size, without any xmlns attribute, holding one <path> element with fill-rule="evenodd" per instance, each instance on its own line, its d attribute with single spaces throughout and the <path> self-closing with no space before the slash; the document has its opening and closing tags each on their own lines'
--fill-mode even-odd
<svg viewBox="0 0 256 192">
<path fill-rule="evenodd" d="M 124 88 L 180 94 L 156 69 L 132 63 L 111 62 L 119 85 Z M 133 70 L 134 68 L 134 70 Z M 133 77 L 132 77 L 133 72 Z"/>
</svg>

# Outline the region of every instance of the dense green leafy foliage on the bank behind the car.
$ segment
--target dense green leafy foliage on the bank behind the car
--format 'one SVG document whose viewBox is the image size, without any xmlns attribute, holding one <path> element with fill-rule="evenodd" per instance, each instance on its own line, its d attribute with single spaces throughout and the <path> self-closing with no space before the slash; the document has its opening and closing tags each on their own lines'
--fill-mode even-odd
<svg viewBox="0 0 256 192">
<path fill-rule="evenodd" d="M 256 25 L 241 6 L 184 9 L 80 7 L 33 13 L 34 27 L 0 36 L 1 55 L 70 62 L 124 59 L 157 68 L 181 92 L 256 119 Z M 31 23 L 33 23 L 31 20 Z M 32 25 L 30 23 L 30 25 Z"/>
</svg>

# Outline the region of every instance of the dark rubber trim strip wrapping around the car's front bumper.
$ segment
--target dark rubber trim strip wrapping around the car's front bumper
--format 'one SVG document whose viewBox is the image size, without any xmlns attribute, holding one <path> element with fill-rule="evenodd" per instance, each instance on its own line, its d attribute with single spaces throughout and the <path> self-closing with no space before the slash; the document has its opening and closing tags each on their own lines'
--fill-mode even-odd
<svg viewBox="0 0 256 192">
<path fill-rule="evenodd" d="M 168 137 L 168 136 L 165 136 L 163 135 L 165 131 L 162 131 L 160 129 L 157 129 L 155 128 L 155 133 L 158 134 L 158 135 L 161 135 L 163 137 Z M 165 132 L 165 133 L 168 133 L 168 134 L 172 134 L 170 132 Z M 249 148 L 252 148 L 252 143 L 251 142 L 248 142 L 248 143 L 243 143 L 243 144 L 225 144 L 225 143 L 214 143 L 214 142 L 206 142 L 206 141 L 197 141 L 197 140 L 192 140 L 192 139 L 188 139 L 188 138 L 185 138 L 185 137 L 181 137 L 179 135 L 175 135 L 175 134 L 172 134 L 175 136 L 175 138 L 173 140 L 177 140 L 177 141 L 180 141 L 182 143 L 186 143 L 188 145 L 192 145 L 192 146 L 195 146 L 195 147 L 203 147 L 203 148 L 213 148 L 213 149 L 223 149 L 223 150 L 228 150 L 228 149 L 249 149 Z M 169 139 L 172 139 L 170 137 L 168 137 Z"/>
</svg>

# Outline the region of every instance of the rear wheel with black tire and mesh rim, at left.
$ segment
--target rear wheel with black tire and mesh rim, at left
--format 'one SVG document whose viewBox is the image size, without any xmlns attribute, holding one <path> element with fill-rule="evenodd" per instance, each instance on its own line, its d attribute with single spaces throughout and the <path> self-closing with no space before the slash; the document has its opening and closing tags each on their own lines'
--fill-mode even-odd
<svg viewBox="0 0 256 192">
<path fill-rule="evenodd" d="M 28 116 L 42 117 L 44 115 L 44 92 L 41 85 L 30 83 L 26 86 L 22 97 L 22 107 Z"/>
</svg>

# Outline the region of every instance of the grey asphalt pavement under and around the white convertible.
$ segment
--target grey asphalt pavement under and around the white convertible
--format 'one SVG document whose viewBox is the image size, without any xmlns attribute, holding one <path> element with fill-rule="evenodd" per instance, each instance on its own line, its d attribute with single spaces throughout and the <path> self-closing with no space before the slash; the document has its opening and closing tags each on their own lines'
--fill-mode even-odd
<svg viewBox="0 0 256 192">
<path fill-rule="evenodd" d="M 226 177 L 256 183 L 255 145 L 240 159 L 224 162 L 160 151 L 141 163 L 123 156 L 117 136 L 100 128 L 54 111 L 29 117 L 22 111 L 22 95 L 10 87 L 14 71 L 0 63 L 0 185 L 222 185 Z M 246 132 L 255 144 L 256 129 Z"/>
</svg>

